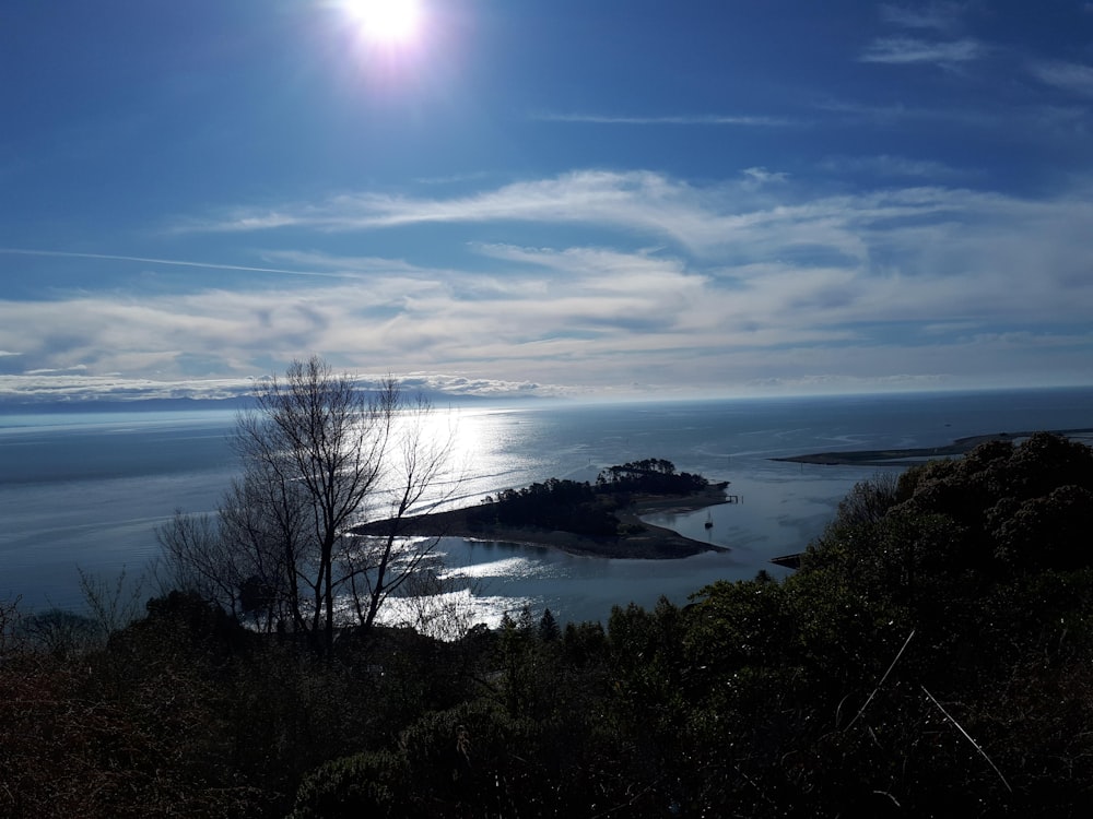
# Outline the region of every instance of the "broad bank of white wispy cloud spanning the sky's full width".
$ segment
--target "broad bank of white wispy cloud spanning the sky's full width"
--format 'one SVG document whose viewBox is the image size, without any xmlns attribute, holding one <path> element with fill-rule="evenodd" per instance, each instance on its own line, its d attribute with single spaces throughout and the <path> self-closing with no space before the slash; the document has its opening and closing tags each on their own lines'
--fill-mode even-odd
<svg viewBox="0 0 1093 819">
<path fill-rule="evenodd" d="M 908 372 L 998 371 L 999 360 L 1039 372 L 1006 346 L 1021 332 L 1054 345 L 1060 361 L 1088 352 L 1079 329 L 1093 310 L 1093 185 L 1032 200 L 938 183 L 832 194 L 796 175 L 761 186 L 754 177 L 698 187 L 650 171 L 575 171 L 458 198 L 287 204 L 279 212 L 297 228 L 278 244 L 303 235 L 314 247 L 308 229 L 415 225 L 423 246 L 440 242 L 431 253 L 455 241 L 460 262 L 280 249 L 262 254 L 271 268 L 363 272 L 367 284 L 286 277 L 169 297 L 0 301 L 0 349 L 20 352 L 0 372 L 40 382 L 75 377 L 26 373 L 85 367 L 87 378 L 185 382 L 260 375 L 270 360 L 322 351 L 349 368 L 591 389 L 789 378 L 802 357 L 813 371 L 888 373 L 895 349 Z M 513 219 L 553 239 L 485 238 Z M 550 232 L 575 222 L 616 232 L 596 247 Z M 449 228 L 431 233 L 457 223 L 455 239 Z"/>
</svg>

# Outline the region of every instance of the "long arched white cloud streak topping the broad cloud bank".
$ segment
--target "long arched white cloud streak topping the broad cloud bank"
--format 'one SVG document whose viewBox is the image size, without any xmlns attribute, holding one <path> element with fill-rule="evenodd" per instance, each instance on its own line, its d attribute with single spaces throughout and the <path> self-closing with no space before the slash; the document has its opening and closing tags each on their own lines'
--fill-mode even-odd
<svg viewBox="0 0 1093 819">
<path fill-rule="evenodd" d="M 589 170 L 516 182 L 469 197 L 412 199 L 361 193 L 319 203 L 285 204 L 278 211 L 297 227 L 343 233 L 451 223 L 597 225 L 634 236 L 671 239 L 690 252 L 705 254 L 727 246 L 754 248 L 743 240 L 771 227 L 779 233 L 763 234 L 760 247 L 812 241 L 811 215 L 821 203 L 847 224 L 865 214 L 871 218 L 922 217 L 952 206 L 951 199 L 926 189 L 798 203 L 799 191 L 784 188 L 774 199 L 767 192 L 771 186 L 756 185 L 757 177 L 779 179 L 776 174 L 752 169 L 743 171 L 739 180 L 698 188 L 651 171 Z M 224 222 L 209 223 L 205 229 L 247 232 L 257 229 L 259 222 L 240 212 Z"/>
</svg>

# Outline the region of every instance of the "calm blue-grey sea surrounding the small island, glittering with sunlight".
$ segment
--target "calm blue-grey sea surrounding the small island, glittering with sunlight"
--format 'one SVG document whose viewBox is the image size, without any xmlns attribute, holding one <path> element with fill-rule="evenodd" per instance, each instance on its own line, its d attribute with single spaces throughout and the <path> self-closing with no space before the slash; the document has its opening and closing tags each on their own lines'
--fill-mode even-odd
<svg viewBox="0 0 1093 819">
<path fill-rule="evenodd" d="M 467 622 L 496 625 L 525 606 L 536 615 L 550 608 L 562 622 L 606 621 L 616 605 L 651 607 L 661 596 L 682 605 L 719 580 L 784 577 L 789 570 L 771 559 L 803 550 L 857 482 L 906 468 L 775 459 L 1089 428 L 1093 388 L 525 401 L 442 408 L 434 419 L 436 435 L 453 440 L 453 476 L 431 502 L 448 507 L 550 477 L 595 480 L 607 466 L 645 458 L 730 482 L 739 502 L 646 519 L 727 551 L 631 560 L 455 537 L 435 547 L 447 598 Z M 122 571 L 128 583 L 145 575 L 160 550 L 157 526 L 176 510 L 215 513 L 238 472 L 235 422 L 230 410 L 0 414 L 0 601 L 79 612 L 81 572 L 108 585 Z M 148 595 L 154 585 L 145 578 L 142 589 Z"/>
</svg>

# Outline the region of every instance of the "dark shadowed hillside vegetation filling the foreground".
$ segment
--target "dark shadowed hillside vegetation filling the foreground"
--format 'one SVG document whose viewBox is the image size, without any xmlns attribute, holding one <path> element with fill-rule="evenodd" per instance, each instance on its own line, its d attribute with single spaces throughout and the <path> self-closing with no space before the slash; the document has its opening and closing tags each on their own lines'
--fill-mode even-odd
<svg viewBox="0 0 1093 819">
<path fill-rule="evenodd" d="M 857 486 L 785 581 L 321 658 L 185 590 L 108 642 L 0 643 L 0 814 L 1084 816 L 1093 451 Z M 39 639 L 32 639 L 38 634 Z"/>
</svg>

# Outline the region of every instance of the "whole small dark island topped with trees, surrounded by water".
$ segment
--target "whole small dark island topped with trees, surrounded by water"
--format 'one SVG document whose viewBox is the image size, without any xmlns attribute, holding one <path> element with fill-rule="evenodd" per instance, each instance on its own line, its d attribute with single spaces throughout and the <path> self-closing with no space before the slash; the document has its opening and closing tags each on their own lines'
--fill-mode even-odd
<svg viewBox="0 0 1093 819">
<path fill-rule="evenodd" d="M 595 484 L 550 478 L 505 489 L 481 503 L 399 521 L 354 527 L 365 536 L 463 537 L 549 546 L 571 555 L 663 560 L 724 546 L 684 537 L 642 520 L 653 512 L 694 511 L 727 501 L 728 482 L 677 472 L 662 459 L 646 459 L 600 472 Z"/>
</svg>

